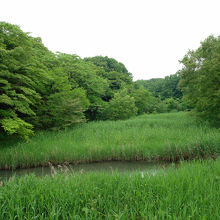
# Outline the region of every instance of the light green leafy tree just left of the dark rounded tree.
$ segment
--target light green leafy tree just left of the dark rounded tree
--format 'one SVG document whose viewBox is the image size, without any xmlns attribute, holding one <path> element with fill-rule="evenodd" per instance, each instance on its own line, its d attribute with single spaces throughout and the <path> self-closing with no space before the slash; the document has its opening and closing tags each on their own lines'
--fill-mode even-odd
<svg viewBox="0 0 220 220">
<path fill-rule="evenodd" d="M 94 64 L 85 62 L 75 55 L 59 53 L 57 58 L 59 66 L 68 76 L 72 89 L 83 88 L 86 91 L 90 102 L 86 111 L 87 118 L 96 119 L 100 103 L 107 94 L 107 80 L 97 74 L 98 69 Z"/>
</svg>

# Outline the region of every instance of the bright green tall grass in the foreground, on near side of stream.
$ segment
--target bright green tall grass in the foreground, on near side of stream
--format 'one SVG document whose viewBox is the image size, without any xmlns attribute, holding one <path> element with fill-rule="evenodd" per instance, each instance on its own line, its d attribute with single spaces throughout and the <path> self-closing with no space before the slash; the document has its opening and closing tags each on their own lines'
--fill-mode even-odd
<svg viewBox="0 0 220 220">
<path fill-rule="evenodd" d="M 12 178 L 0 219 L 220 219 L 220 160 L 157 175 L 78 173 Z"/>
</svg>

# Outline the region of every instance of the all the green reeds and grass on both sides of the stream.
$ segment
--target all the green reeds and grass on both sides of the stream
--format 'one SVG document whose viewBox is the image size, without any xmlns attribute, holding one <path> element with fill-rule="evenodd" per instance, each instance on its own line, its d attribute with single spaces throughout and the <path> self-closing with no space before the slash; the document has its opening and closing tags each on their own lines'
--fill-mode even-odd
<svg viewBox="0 0 220 220">
<path fill-rule="evenodd" d="M 0 219 L 219 219 L 220 160 L 208 159 L 218 157 L 219 143 L 218 129 L 198 125 L 186 113 L 38 133 L 28 142 L 5 145 L 1 168 L 48 166 L 49 161 L 181 161 L 156 170 L 134 170 L 134 165 L 124 172 L 117 166 L 69 171 L 68 163 L 57 172 L 50 164 L 50 175 L 15 174 L 2 179 Z"/>
</svg>

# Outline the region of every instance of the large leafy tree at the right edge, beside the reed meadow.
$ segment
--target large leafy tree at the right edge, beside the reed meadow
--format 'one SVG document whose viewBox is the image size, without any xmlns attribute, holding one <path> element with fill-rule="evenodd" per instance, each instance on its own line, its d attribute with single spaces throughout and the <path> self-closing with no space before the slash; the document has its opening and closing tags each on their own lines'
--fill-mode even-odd
<svg viewBox="0 0 220 220">
<path fill-rule="evenodd" d="M 220 126 L 220 37 L 208 37 L 182 59 L 180 87 L 202 118 Z"/>
</svg>

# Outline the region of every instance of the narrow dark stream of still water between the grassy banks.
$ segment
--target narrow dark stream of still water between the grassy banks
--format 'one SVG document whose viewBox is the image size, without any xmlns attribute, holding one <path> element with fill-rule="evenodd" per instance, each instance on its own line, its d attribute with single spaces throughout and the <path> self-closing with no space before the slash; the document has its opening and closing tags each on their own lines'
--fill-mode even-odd
<svg viewBox="0 0 220 220">
<path fill-rule="evenodd" d="M 166 168 L 168 164 L 158 162 L 146 161 L 111 161 L 111 162 L 98 162 L 90 164 L 77 164 L 68 166 L 55 166 L 55 167 L 37 167 L 29 169 L 0 170 L 0 179 L 7 179 L 14 175 L 23 176 L 28 174 L 35 174 L 36 176 L 51 175 L 54 172 L 151 172 L 156 173 Z"/>
</svg>

